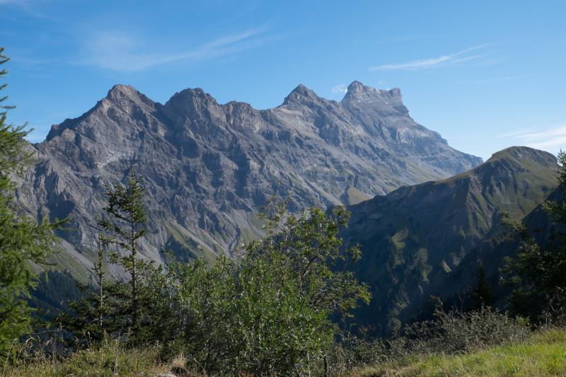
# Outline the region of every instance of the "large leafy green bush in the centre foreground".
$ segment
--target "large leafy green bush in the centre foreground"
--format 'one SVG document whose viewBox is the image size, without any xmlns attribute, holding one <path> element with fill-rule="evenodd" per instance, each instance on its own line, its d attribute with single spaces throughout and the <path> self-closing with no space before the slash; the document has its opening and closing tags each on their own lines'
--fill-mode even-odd
<svg viewBox="0 0 566 377">
<path fill-rule="evenodd" d="M 320 368 L 338 327 L 366 287 L 337 263 L 357 257 L 337 238 L 347 212 L 310 209 L 284 219 L 280 205 L 267 217 L 267 235 L 243 249 L 236 264 L 220 257 L 171 268 L 180 321 L 175 340 L 207 373 L 291 375 Z M 191 362 L 191 360 L 189 360 Z"/>
</svg>

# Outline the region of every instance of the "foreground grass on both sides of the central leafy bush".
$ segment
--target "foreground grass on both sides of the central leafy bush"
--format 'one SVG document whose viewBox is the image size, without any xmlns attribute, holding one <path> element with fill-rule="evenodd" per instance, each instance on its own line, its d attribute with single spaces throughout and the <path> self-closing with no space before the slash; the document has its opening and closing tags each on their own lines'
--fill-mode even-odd
<svg viewBox="0 0 566 377">
<path fill-rule="evenodd" d="M 206 376 L 185 369 L 187 356 L 160 362 L 157 349 L 123 349 L 115 341 L 76 352 L 68 359 L 45 357 L 11 366 L 2 376 Z M 525 342 L 456 356 L 411 355 L 394 362 L 330 376 L 566 376 L 566 330 L 533 333 Z"/>
</svg>

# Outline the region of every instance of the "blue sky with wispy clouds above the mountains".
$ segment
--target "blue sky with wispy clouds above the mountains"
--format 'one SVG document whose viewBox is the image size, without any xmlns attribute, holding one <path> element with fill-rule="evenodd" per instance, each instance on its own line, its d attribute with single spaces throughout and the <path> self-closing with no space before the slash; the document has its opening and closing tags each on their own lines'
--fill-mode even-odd
<svg viewBox="0 0 566 377">
<path fill-rule="evenodd" d="M 261 109 L 298 83 L 340 100 L 359 80 L 401 88 L 417 122 L 488 158 L 566 146 L 565 18 L 558 0 L 0 0 L 0 46 L 10 120 L 32 141 L 115 83 Z"/>
</svg>

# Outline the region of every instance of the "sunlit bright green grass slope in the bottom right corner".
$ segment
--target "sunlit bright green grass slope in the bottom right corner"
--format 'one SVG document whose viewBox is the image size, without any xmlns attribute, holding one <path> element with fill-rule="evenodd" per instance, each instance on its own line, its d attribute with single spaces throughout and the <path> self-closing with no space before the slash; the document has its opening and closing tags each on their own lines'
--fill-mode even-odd
<svg viewBox="0 0 566 377">
<path fill-rule="evenodd" d="M 470 354 L 409 356 L 352 376 L 566 376 L 566 330 L 543 330 L 521 344 Z"/>
</svg>

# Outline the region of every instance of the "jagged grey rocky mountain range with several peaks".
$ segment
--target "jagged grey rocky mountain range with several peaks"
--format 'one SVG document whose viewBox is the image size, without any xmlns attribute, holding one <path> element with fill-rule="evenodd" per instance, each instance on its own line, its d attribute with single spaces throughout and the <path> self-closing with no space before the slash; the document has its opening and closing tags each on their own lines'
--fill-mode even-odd
<svg viewBox="0 0 566 377">
<path fill-rule="evenodd" d="M 171 248 L 212 260 L 260 233 L 254 213 L 273 195 L 289 196 L 292 210 L 353 204 L 482 162 L 412 120 L 398 89 L 357 81 L 341 102 L 299 85 L 269 110 L 220 104 L 200 88 L 162 105 L 117 85 L 33 148 L 39 161 L 18 199 L 37 216 L 69 217 L 57 259 L 76 276 L 91 265 L 104 185 L 129 168 L 147 192 L 144 257 Z"/>
</svg>

